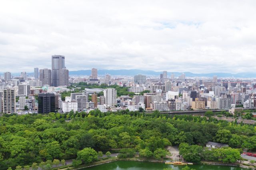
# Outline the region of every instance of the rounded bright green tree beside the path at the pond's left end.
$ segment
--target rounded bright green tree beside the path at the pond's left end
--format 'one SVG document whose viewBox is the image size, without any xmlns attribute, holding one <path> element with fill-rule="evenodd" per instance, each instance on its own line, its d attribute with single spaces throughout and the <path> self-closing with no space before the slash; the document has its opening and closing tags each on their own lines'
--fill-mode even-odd
<svg viewBox="0 0 256 170">
<path fill-rule="evenodd" d="M 98 159 L 98 154 L 92 148 L 84 148 L 77 152 L 77 159 L 82 160 L 84 163 L 90 163 Z"/>
</svg>

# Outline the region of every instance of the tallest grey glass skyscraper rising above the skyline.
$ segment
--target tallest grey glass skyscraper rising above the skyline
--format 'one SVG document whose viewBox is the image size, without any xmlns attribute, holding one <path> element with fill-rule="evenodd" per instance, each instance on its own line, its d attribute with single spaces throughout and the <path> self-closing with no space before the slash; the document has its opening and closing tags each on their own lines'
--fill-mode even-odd
<svg viewBox="0 0 256 170">
<path fill-rule="evenodd" d="M 60 86 L 62 69 L 65 69 L 65 56 L 52 55 L 52 86 Z"/>
</svg>

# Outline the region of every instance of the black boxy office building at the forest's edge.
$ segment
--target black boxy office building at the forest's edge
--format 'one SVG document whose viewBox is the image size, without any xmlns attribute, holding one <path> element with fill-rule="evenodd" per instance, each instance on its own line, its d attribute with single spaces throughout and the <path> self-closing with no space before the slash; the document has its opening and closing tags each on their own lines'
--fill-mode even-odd
<svg viewBox="0 0 256 170">
<path fill-rule="evenodd" d="M 38 113 L 55 112 L 55 95 L 54 93 L 38 94 Z"/>
</svg>

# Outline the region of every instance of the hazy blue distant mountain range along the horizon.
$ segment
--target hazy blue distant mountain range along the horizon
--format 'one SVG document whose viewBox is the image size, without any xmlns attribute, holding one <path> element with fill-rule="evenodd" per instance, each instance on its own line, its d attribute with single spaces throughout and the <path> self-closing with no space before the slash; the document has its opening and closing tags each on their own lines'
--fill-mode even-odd
<svg viewBox="0 0 256 170">
<path fill-rule="evenodd" d="M 162 73 L 162 71 L 151 71 L 151 70 L 139 70 L 139 69 L 121 69 L 121 70 L 98 70 L 99 75 L 137 75 L 137 74 L 143 74 L 143 75 L 159 75 Z M 186 77 L 212 77 L 214 75 L 217 75 L 218 77 L 235 77 L 235 78 L 256 78 L 256 73 L 191 73 L 191 72 L 168 72 L 168 76 L 171 75 L 171 73 L 174 73 L 175 76 L 179 76 L 182 73 L 186 74 Z M 78 70 L 78 71 L 70 71 L 70 75 L 91 75 L 91 70 Z"/>
</svg>

